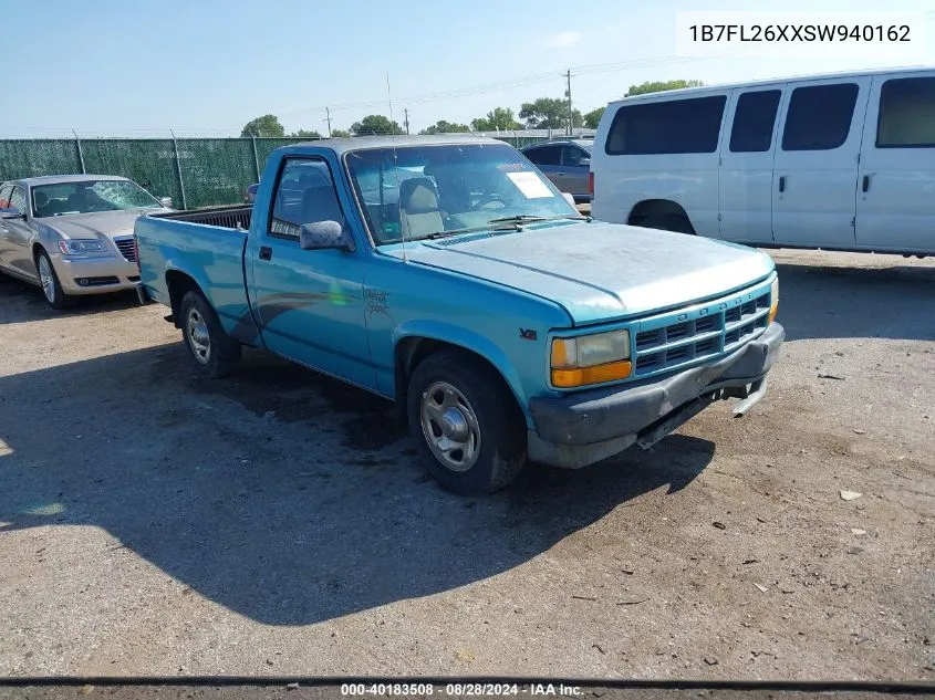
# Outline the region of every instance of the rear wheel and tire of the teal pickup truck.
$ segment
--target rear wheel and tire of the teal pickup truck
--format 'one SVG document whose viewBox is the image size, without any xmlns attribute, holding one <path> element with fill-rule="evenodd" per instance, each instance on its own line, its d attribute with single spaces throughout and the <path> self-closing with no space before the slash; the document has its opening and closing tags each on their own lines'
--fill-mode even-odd
<svg viewBox="0 0 935 700">
<path fill-rule="evenodd" d="M 186 292 L 178 312 L 185 347 L 198 374 L 220 379 L 235 372 L 240 365 L 240 343 L 225 333 L 204 294 Z"/>
</svg>

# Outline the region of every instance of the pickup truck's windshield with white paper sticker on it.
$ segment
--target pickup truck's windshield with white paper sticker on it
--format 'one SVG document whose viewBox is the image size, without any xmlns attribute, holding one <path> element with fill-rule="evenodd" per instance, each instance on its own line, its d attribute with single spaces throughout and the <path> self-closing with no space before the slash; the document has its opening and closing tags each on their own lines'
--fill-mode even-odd
<svg viewBox="0 0 935 700">
<path fill-rule="evenodd" d="M 513 218 L 580 217 L 506 144 L 374 148 L 347 154 L 346 163 L 376 244 Z"/>
</svg>

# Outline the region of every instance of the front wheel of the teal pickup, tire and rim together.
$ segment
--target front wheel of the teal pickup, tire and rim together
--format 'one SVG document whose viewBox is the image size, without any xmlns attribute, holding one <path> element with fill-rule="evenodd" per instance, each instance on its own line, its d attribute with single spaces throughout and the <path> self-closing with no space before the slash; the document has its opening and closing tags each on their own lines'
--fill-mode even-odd
<svg viewBox="0 0 935 700">
<path fill-rule="evenodd" d="M 526 420 L 512 393 L 468 353 L 441 351 L 419 363 L 409 379 L 406 414 L 428 473 L 449 491 L 494 493 L 526 463 Z"/>
</svg>

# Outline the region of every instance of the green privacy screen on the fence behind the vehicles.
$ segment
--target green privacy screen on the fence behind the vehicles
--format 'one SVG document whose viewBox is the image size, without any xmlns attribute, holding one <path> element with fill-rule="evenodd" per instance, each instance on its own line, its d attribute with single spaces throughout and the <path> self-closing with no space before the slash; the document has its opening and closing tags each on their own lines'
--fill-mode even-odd
<svg viewBox="0 0 935 700">
<path fill-rule="evenodd" d="M 37 138 L 0 140 L 0 181 L 39 175 L 121 175 L 181 209 L 243 200 L 277 148 L 301 138 Z M 541 138 L 503 137 L 521 148 Z"/>
</svg>

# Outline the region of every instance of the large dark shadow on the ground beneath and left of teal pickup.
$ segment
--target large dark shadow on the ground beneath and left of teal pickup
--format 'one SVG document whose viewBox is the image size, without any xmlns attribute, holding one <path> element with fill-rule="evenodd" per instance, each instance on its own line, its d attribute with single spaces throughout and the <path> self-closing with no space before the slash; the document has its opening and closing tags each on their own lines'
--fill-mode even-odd
<svg viewBox="0 0 935 700">
<path fill-rule="evenodd" d="M 672 436 L 463 498 L 424 474 L 385 401 L 253 353 L 238 376 L 205 383 L 180 345 L 2 377 L 0 415 L 0 537 L 98 526 L 117 542 L 94 556 L 128 547 L 270 625 L 507 572 L 627 501 L 684 489 L 715 449 Z"/>
</svg>

